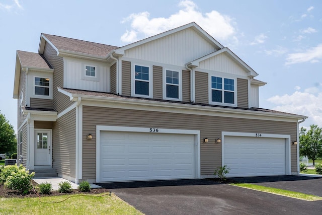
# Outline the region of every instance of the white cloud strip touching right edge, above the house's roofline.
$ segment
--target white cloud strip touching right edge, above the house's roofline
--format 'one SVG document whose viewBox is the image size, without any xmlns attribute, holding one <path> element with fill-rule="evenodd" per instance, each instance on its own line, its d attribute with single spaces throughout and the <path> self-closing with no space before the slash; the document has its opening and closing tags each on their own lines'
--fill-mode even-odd
<svg viewBox="0 0 322 215">
<path fill-rule="evenodd" d="M 318 62 L 322 59 L 322 43 L 304 52 L 288 54 L 285 65 L 303 62 Z"/>
</svg>

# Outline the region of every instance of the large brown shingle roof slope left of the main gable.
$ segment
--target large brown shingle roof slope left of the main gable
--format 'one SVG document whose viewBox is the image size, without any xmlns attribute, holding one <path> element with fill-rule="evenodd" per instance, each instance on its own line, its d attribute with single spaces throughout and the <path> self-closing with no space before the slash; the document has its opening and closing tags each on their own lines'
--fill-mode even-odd
<svg viewBox="0 0 322 215">
<path fill-rule="evenodd" d="M 50 34 L 42 34 L 45 36 L 57 49 L 90 54 L 99 57 L 105 57 L 117 46 L 105 45 L 100 43 L 88 42 L 84 40 L 71 39 Z"/>
</svg>

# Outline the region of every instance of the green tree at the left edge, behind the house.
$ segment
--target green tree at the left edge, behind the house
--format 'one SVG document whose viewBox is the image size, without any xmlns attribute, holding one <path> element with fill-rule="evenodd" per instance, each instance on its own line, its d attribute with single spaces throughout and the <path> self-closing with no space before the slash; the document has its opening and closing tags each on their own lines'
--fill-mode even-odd
<svg viewBox="0 0 322 215">
<path fill-rule="evenodd" d="M 0 112 L 0 153 L 17 152 L 17 139 L 14 130 L 5 115 Z"/>
</svg>

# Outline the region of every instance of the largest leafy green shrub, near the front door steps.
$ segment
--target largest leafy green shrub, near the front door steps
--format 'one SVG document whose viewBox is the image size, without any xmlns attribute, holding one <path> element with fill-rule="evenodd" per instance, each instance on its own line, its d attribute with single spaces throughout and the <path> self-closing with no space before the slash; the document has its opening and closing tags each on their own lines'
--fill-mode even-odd
<svg viewBox="0 0 322 215">
<path fill-rule="evenodd" d="M 27 194 L 32 188 L 31 180 L 34 176 L 34 172 L 29 174 L 29 171 L 26 171 L 26 168 L 20 165 L 17 172 L 11 172 L 4 185 L 8 187 L 8 189 L 17 190 L 19 193 Z"/>
</svg>

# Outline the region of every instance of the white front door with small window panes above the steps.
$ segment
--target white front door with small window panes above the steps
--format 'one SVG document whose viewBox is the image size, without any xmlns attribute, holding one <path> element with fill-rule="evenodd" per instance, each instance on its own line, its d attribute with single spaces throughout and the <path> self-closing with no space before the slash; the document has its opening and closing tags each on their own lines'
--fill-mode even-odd
<svg viewBox="0 0 322 215">
<path fill-rule="evenodd" d="M 35 130 L 35 165 L 51 166 L 51 130 Z"/>
</svg>

